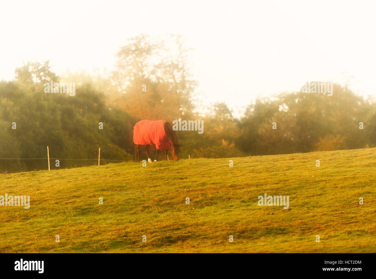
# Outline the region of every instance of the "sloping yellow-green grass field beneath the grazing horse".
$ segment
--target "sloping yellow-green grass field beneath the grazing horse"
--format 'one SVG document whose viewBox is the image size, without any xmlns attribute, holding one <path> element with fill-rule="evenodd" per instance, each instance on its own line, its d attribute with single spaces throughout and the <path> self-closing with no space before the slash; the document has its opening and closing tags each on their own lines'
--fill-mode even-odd
<svg viewBox="0 0 376 279">
<path fill-rule="evenodd" d="M 0 251 L 376 252 L 375 186 L 375 148 L 0 174 L 0 195 L 30 196 L 0 206 Z"/>
</svg>

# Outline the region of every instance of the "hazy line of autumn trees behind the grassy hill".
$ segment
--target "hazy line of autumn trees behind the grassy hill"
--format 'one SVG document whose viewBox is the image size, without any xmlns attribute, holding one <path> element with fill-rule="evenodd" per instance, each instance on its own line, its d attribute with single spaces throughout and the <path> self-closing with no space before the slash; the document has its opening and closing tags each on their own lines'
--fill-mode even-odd
<svg viewBox="0 0 376 279">
<path fill-rule="evenodd" d="M 0 82 L 0 158 L 45 158 L 49 146 L 51 158 L 92 159 L 61 160 L 64 168 L 95 164 L 99 147 L 104 160 L 132 160 L 132 128 L 142 119 L 203 120 L 202 134 L 177 131 L 181 158 L 376 145 L 374 100 L 365 100 L 339 84 L 334 84 L 330 97 L 303 94 L 297 88 L 297 92 L 244 100 L 250 103 L 240 118 L 233 117 L 225 103 L 214 103 L 201 113 L 189 52 L 181 36 L 162 40 L 140 35 L 120 48 L 111 73 L 81 71 L 58 76 L 48 61 L 22 65 L 15 70 L 14 80 Z M 75 96 L 44 93 L 44 84 L 51 80 L 74 82 Z M 100 122 L 103 129 L 99 129 Z M 46 168 L 44 159 L 0 159 L 1 171 Z"/>
</svg>

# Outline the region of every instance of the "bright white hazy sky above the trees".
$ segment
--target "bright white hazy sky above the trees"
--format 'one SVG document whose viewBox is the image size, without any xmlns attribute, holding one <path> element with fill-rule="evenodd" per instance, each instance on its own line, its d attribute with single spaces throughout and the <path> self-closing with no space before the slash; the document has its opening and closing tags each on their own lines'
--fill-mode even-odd
<svg viewBox="0 0 376 279">
<path fill-rule="evenodd" d="M 126 39 L 181 34 L 204 104 L 237 115 L 259 94 L 298 91 L 306 81 L 343 83 L 376 97 L 376 2 L 6 1 L 0 16 L 0 80 L 23 61 L 52 70 L 112 70 Z"/>
</svg>

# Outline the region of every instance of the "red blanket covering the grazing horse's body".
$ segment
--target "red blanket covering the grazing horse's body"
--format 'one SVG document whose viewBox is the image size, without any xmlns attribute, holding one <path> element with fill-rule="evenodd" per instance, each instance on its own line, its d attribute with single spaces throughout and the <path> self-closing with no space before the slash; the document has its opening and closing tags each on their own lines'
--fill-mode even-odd
<svg viewBox="0 0 376 279">
<path fill-rule="evenodd" d="M 155 144 L 156 149 L 171 149 L 171 143 L 164 130 L 166 120 L 141 120 L 133 127 L 133 143 Z"/>
</svg>

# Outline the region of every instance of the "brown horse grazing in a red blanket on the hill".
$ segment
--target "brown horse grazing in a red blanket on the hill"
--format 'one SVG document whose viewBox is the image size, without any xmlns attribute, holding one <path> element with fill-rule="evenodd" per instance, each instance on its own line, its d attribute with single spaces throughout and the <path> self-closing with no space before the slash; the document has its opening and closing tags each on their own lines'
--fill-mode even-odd
<svg viewBox="0 0 376 279">
<path fill-rule="evenodd" d="M 168 149 L 171 149 L 172 156 L 175 161 L 178 161 L 179 147 L 177 143 L 176 133 L 172 129 L 170 123 L 165 120 L 141 120 L 133 127 L 133 143 L 135 143 L 135 161 L 139 161 L 140 145 L 145 145 L 145 153 L 149 163 L 152 160 L 149 157 L 150 145 L 155 145 L 156 154 L 155 160 L 157 161 L 158 153 L 160 150 L 165 151 L 167 160 Z"/>
</svg>

